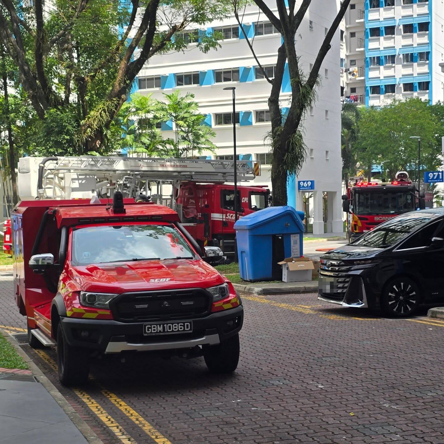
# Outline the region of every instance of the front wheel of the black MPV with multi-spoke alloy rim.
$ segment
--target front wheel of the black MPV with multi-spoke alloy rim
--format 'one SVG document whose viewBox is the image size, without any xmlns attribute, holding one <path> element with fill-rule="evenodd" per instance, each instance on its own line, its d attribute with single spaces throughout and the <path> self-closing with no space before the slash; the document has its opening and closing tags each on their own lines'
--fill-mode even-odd
<svg viewBox="0 0 444 444">
<path fill-rule="evenodd" d="M 406 276 L 389 281 L 381 294 L 381 308 L 390 317 L 412 316 L 418 309 L 419 301 L 418 285 Z"/>
</svg>

